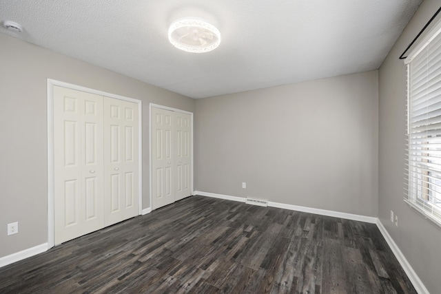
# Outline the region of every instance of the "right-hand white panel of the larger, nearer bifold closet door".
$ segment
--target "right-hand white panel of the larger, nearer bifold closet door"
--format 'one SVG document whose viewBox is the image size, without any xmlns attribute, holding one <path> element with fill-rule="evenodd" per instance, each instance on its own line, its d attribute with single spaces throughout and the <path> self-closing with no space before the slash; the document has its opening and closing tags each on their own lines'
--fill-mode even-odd
<svg viewBox="0 0 441 294">
<path fill-rule="evenodd" d="M 105 225 L 137 216 L 138 104 L 104 97 Z"/>
</svg>

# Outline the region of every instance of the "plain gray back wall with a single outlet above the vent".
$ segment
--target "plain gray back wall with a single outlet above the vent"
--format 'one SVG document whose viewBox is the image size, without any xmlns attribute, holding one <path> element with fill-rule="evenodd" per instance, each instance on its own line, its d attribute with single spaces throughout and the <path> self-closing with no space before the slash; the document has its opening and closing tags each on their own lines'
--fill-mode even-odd
<svg viewBox="0 0 441 294">
<path fill-rule="evenodd" d="M 377 71 L 197 100 L 195 134 L 198 191 L 377 216 Z"/>
</svg>

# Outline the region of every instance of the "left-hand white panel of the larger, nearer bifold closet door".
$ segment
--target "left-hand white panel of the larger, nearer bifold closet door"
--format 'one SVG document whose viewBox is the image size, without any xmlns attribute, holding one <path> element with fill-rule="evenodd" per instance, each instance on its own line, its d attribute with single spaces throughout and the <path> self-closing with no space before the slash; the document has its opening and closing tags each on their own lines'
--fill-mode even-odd
<svg viewBox="0 0 441 294">
<path fill-rule="evenodd" d="M 103 98 L 54 87 L 54 243 L 104 224 Z"/>
</svg>

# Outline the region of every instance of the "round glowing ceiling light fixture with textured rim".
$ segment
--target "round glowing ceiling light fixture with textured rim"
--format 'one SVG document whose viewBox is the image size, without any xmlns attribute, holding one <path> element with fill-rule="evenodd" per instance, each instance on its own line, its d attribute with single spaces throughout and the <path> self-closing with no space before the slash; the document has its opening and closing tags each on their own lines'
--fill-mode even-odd
<svg viewBox="0 0 441 294">
<path fill-rule="evenodd" d="M 220 44 L 220 32 L 214 25 L 186 17 L 174 21 L 168 29 L 168 39 L 174 47 L 194 53 L 209 52 Z"/>
</svg>

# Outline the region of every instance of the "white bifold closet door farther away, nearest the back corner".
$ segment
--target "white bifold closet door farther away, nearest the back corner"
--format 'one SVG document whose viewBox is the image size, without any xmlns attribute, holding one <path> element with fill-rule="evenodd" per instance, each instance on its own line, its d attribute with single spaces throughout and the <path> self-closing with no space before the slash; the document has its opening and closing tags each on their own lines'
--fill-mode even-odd
<svg viewBox="0 0 441 294">
<path fill-rule="evenodd" d="M 152 208 L 192 195 L 192 118 L 152 107 Z"/>
</svg>

